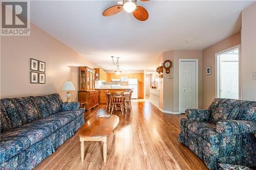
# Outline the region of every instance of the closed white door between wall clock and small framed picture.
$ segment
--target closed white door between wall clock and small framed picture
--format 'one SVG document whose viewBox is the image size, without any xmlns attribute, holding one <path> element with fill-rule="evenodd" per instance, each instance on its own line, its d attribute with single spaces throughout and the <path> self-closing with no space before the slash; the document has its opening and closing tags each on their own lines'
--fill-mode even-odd
<svg viewBox="0 0 256 170">
<path fill-rule="evenodd" d="M 180 61 L 179 64 L 179 110 L 197 108 L 197 62 Z"/>
</svg>

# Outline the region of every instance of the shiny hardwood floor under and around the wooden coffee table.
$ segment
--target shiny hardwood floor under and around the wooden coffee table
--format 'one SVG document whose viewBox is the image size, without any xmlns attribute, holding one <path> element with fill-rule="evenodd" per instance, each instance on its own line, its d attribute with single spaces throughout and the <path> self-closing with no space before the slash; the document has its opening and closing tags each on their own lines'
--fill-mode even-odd
<svg viewBox="0 0 256 170">
<path fill-rule="evenodd" d="M 108 136 L 107 159 L 103 163 L 102 143 L 85 142 L 84 162 L 76 133 L 35 169 L 208 169 L 185 145 L 178 141 L 180 118 L 165 114 L 150 102 L 132 102 L 132 111 L 121 114 L 116 135 Z M 105 105 L 86 112 L 88 120 L 103 114 Z M 97 112 L 97 113 L 96 113 Z"/>
</svg>

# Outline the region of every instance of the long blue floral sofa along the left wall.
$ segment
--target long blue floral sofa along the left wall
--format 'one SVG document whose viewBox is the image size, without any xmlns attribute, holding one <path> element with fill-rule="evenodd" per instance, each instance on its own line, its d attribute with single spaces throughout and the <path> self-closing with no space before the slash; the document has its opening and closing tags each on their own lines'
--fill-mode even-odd
<svg viewBox="0 0 256 170">
<path fill-rule="evenodd" d="M 32 169 L 84 124 L 79 103 L 59 94 L 0 100 L 0 169 Z"/>
</svg>

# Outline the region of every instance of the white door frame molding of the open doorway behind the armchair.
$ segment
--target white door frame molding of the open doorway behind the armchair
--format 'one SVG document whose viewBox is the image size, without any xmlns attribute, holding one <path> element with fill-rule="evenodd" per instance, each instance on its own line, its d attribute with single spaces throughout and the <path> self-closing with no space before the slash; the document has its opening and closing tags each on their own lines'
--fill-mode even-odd
<svg viewBox="0 0 256 170">
<path fill-rule="evenodd" d="M 241 58 L 241 44 L 232 46 L 223 50 L 221 52 L 215 53 L 215 98 L 220 98 L 220 58 L 219 55 L 222 53 L 226 53 L 229 51 L 233 51 L 234 49 L 238 48 L 238 76 L 239 76 L 239 94 L 238 98 L 242 98 L 242 58 Z"/>
</svg>

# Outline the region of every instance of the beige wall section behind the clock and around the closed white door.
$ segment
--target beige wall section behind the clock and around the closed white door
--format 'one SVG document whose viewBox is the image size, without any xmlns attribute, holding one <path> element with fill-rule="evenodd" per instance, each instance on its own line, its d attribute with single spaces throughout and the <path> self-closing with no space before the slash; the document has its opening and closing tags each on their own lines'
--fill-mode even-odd
<svg viewBox="0 0 256 170">
<path fill-rule="evenodd" d="M 202 51 L 168 51 L 164 52 L 159 57 L 159 62 L 163 63 L 165 60 L 170 60 L 173 66 L 170 68 L 170 74 L 163 74 L 163 84 L 160 83 L 160 96 L 159 107 L 160 109 L 170 112 L 179 112 L 179 59 L 198 59 L 198 106 L 202 108 Z M 173 79 L 168 79 L 168 76 L 172 75 Z"/>
</svg>

